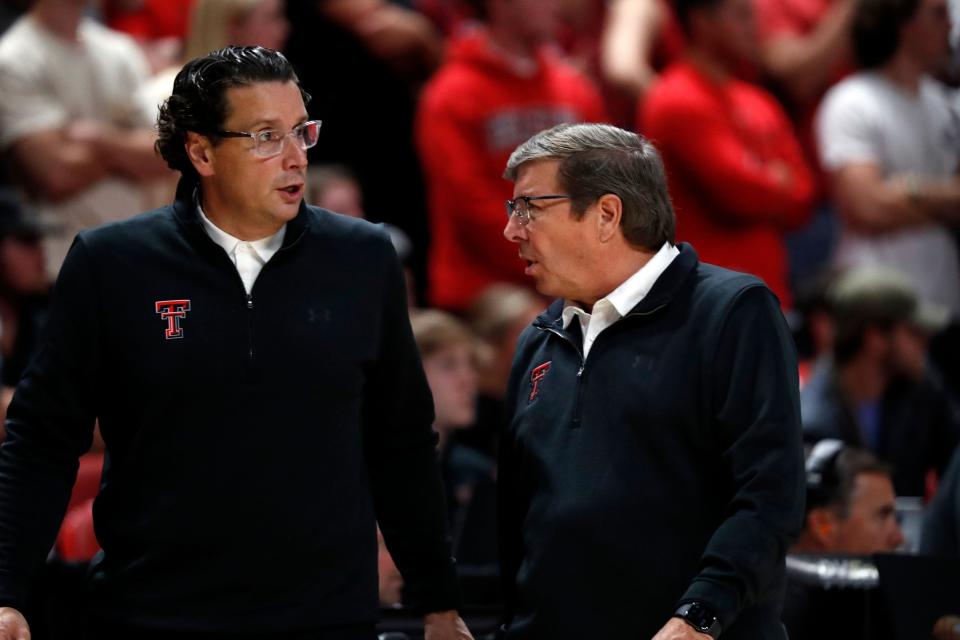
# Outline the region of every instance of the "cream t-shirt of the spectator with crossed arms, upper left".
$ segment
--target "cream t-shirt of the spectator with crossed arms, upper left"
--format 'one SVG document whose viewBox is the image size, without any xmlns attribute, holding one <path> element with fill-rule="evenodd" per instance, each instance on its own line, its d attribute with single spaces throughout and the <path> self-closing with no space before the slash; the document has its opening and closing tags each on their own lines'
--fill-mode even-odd
<svg viewBox="0 0 960 640">
<path fill-rule="evenodd" d="M 155 111 L 135 96 L 150 77 L 146 58 L 129 36 L 84 18 L 77 42 L 48 31 L 30 13 L 0 38 L 0 151 L 20 139 L 81 120 L 149 128 Z M 108 177 L 60 202 L 34 208 L 61 231 L 44 238 L 47 269 L 56 276 L 81 230 L 146 209 L 143 186 Z"/>
</svg>

